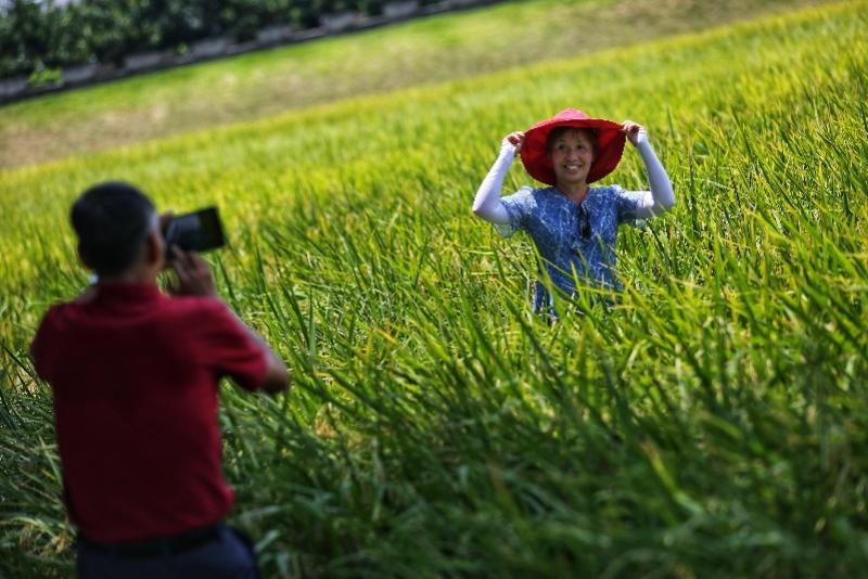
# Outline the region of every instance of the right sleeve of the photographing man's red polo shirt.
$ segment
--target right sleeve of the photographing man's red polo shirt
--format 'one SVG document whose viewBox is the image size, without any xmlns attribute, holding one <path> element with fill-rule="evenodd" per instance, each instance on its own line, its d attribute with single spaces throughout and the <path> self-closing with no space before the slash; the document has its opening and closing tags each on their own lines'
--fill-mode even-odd
<svg viewBox="0 0 868 579">
<path fill-rule="evenodd" d="M 256 390 L 265 381 L 266 352 L 250 330 L 220 300 L 203 300 L 201 356 L 218 376 L 230 376 L 239 386 Z"/>
</svg>

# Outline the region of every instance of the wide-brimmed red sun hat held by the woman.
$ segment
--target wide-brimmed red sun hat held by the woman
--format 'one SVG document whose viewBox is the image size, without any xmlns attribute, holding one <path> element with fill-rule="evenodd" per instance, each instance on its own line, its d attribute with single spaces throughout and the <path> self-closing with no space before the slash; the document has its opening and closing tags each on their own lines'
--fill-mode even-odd
<svg viewBox="0 0 868 579">
<path fill-rule="evenodd" d="M 602 118 L 590 118 L 582 111 L 566 108 L 525 131 L 521 156 L 524 168 L 531 177 L 549 185 L 556 183 L 554 167 L 546 151 L 549 132 L 556 127 L 593 129 L 597 133 L 597 154 L 588 171 L 588 183 L 599 181 L 615 170 L 627 139 L 621 130 L 621 125 Z"/>
</svg>

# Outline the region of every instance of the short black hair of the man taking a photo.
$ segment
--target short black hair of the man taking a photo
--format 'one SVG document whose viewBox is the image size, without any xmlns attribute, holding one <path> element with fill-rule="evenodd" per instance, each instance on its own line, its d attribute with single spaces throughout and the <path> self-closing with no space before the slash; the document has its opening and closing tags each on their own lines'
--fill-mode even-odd
<svg viewBox="0 0 868 579">
<path fill-rule="evenodd" d="M 142 250 L 154 210 L 151 200 L 128 183 L 100 183 L 85 191 L 69 215 L 85 262 L 99 275 L 124 272 Z"/>
</svg>

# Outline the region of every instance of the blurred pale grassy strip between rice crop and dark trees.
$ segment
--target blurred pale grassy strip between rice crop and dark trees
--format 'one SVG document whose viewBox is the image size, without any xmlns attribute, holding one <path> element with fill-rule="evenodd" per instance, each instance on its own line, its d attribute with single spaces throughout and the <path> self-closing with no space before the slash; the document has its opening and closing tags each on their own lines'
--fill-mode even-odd
<svg viewBox="0 0 868 579">
<path fill-rule="evenodd" d="M 828 2 L 499 2 L 0 107 L 0 169 Z"/>
</svg>

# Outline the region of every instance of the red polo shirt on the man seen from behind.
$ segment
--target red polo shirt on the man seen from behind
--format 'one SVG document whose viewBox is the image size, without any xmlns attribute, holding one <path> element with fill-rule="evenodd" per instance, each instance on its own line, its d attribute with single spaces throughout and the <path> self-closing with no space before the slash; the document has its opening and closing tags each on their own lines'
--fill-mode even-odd
<svg viewBox="0 0 868 579">
<path fill-rule="evenodd" d="M 66 505 L 101 542 L 167 537 L 232 505 L 217 386 L 258 388 L 266 358 L 221 301 L 100 285 L 53 306 L 31 351 L 54 394 Z"/>
</svg>

